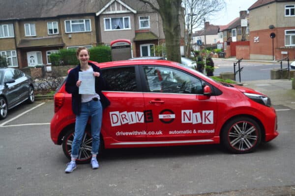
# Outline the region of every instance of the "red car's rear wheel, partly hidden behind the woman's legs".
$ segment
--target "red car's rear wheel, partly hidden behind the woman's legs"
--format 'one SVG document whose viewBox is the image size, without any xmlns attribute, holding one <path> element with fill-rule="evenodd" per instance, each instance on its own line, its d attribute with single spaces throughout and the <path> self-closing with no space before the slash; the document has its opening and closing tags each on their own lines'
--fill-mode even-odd
<svg viewBox="0 0 295 196">
<path fill-rule="evenodd" d="M 63 153 L 68 159 L 71 159 L 74 132 L 75 132 L 74 129 L 69 130 L 67 134 L 64 136 L 64 139 L 62 142 Z M 99 154 L 101 154 L 103 146 L 104 146 L 103 140 L 102 140 L 102 137 L 100 136 Z M 92 158 L 91 150 L 92 150 L 92 137 L 91 137 L 90 131 L 86 130 L 82 138 L 82 142 L 80 145 L 78 158 L 76 159 L 76 162 L 81 164 L 89 163 Z"/>
</svg>

